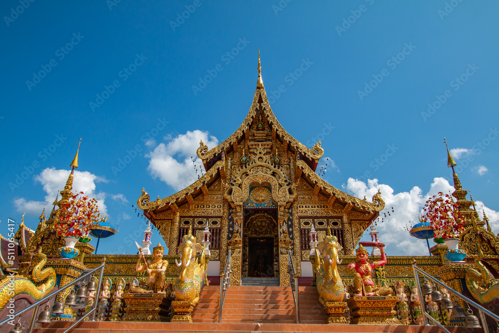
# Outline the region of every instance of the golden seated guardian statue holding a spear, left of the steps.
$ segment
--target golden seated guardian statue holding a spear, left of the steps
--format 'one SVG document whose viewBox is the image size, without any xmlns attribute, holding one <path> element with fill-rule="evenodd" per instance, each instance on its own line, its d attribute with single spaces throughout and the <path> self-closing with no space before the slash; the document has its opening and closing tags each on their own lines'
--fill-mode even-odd
<svg viewBox="0 0 499 333">
<path fill-rule="evenodd" d="M 166 269 L 168 267 L 168 260 L 163 260 L 163 251 L 165 250 L 161 244 L 158 244 L 153 248 L 153 259 L 146 261 L 144 259 L 144 254 L 142 253 L 142 248 L 139 248 L 139 258 L 137 260 L 137 265 L 135 265 L 136 272 L 146 271 L 149 277 L 147 278 L 146 284 L 149 287 L 149 291 L 158 294 L 165 294 L 165 281 L 166 281 Z"/>
</svg>

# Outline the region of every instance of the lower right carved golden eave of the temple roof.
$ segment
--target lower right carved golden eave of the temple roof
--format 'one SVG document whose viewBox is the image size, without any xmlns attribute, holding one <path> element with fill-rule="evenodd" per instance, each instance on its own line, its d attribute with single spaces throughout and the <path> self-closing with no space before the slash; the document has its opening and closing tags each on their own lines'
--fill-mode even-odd
<svg viewBox="0 0 499 333">
<path fill-rule="evenodd" d="M 301 172 L 298 172 L 298 170 L 301 170 Z M 329 200 L 332 202 L 338 201 L 342 204 L 350 204 L 357 211 L 370 213 L 370 220 L 376 218 L 379 212 L 383 210 L 383 208 L 385 208 L 385 201 L 381 198 L 381 193 L 379 191 L 373 196 L 373 202 L 368 202 L 365 199 L 360 200 L 359 198 L 351 196 L 328 184 L 312 169 L 310 169 L 310 167 L 302 160 L 298 160 L 298 162 L 296 163 L 296 171 L 296 173 L 299 174 L 300 177 L 306 177 L 306 179 L 313 184 L 313 188 L 320 188 L 320 190 L 317 191 L 317 194 L 319 191 L 321 191 L 326 197 L 329 197 Z M 331 197 L 335 199 L 332 199 Z"/>
</svg>

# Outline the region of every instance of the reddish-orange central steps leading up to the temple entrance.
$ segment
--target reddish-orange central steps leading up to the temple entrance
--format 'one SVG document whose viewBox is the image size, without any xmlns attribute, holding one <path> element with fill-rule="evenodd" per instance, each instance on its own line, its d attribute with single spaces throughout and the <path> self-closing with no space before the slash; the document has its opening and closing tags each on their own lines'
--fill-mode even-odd
<svg viewBox="0 0 499 333">
<path fill-rule="evenodd" d="M 218 323 L 220 287 L 206 286 L 192 314 L 195 323 Z M 327 315 L 315 287 L 299 287 L 300 323 L 325 324 Z M 231 286 L 222 323 L 296 323 L 291 288 L 278 286 Z"/>
</svg>

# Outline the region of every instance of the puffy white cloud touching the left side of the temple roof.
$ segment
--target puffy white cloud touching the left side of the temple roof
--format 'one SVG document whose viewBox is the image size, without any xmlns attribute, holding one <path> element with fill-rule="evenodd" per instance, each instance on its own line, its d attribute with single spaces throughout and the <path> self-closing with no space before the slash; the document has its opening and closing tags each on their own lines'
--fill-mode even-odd
<svg viewBox="0 0 499 333">
<path fill-rule="evenodd" d="M 167 144 L 160 143 L 146 155 L 149 158 L 148 170 L 153 178 L 161 179 L 176 190 L 194 183 L 202 171 L 199 163 L 195 165 L 191 157 L 197 157 L 196 150 L 201 140 L 209 149 L 218 144 L 216 137 L 198 129 L 170 138 Z"/>
</svg>

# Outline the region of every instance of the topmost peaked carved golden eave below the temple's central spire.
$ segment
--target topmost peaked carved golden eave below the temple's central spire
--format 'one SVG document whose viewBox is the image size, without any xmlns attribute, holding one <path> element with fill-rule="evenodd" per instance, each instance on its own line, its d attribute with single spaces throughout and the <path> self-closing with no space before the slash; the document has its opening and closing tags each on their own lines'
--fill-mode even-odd
<svg viewBox="0 0 499 333">
<path fill-rule="evenodd" d="M 277 118 L 272 112 L 270 108 L 270 104 L 267 100 L 267 95 L 265 93 L 265 88 L 263 87 L 263 83 L 261 83 L 261 78 L 258 77 L 258 84 L 253 96 L 253 102 L 250 107 L 250 111 L 246 116 L 245 120 L 241 124 L 241 126 L 232 134 L 229 138 L 227 138 L 224 142 L 216 146 L 215 148 L 208 150 L 208 147 L 204 144 L 198 148 L 197 155 L 203 161 L 203 165 L 205 166 L 205 170 L 209 170 L 212 165 L 216 161 L 223 159 L 224 151 L 229 151 L 234 149 L 237 151 L 238 142 L 240 140 L 248 140 L 250 126 L 253 123 L 254 117 L 256 115 L 256 111 L 259 108 L 263 108 L 263 114 L 266 121 L 270 124 L 272 138 L 278 137 L 280 141 L 282 141 L 285 150 L 292 147 L 294 150 L 294 154 L 298 152 L 302 159 L 307 160 L 308 164 L 312 170 L 315 170 L 319 159 L 324 155 L 324 150 L 320 147 L 320 142 L 314 145 L 311 149 L 305 147 L 298 140 L 293 138 L 277 121 Z"/>
</svg>

